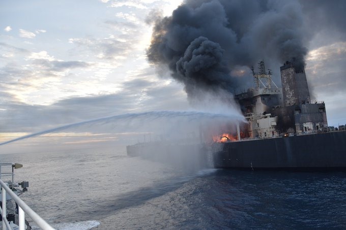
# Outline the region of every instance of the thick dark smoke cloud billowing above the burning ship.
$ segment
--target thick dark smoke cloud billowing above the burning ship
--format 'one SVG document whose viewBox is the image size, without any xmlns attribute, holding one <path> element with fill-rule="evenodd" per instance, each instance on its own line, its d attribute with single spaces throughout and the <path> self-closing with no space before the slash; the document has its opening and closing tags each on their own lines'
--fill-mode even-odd
<svg viewBox="0 0 346 230">
<path fill-rule="evenodd" d="M 187 0 L 156 18 L 149 60 L 169 67 L 189 96 L 232 92 L 246 81 L 230 76 L 258 59 L 304 64 L 305 26 L 298 1 Z"/>
</svg>

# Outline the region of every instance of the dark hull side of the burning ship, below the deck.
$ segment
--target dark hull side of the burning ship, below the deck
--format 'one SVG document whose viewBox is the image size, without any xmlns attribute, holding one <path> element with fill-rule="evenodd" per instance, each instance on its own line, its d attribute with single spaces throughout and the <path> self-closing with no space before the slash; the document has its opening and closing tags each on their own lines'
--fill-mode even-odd
<svg viewBox="0 0 346 230">
<path fill-rule="evenodd" d="M 218 169 L 346 169 L 346 131 L 212 146 Z"/>
</svg>

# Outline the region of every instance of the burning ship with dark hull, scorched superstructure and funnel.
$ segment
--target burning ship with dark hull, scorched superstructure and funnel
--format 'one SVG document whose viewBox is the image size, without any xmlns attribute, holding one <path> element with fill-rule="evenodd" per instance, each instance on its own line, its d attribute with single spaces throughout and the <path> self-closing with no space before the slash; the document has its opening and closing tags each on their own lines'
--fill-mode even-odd
<svg viewBox="0 0 346 230">
<path fill-rule="evenodd" d="M 346 131 L 328 127 L 325 103 L 311 102 L 304 66 L 284 63 L 279 88 L 259 65 L 255 87 L 235 96 L 247 123 L 212 145 L 214 167 L 346 169 Z"/>
</svg>

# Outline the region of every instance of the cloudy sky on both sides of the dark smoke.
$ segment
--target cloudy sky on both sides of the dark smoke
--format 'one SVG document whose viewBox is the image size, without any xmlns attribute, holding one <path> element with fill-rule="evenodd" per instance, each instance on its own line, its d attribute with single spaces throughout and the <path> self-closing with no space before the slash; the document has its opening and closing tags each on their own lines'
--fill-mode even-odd
<svg viewBox="0 0 346 230">
<path fill-rule="evenodd" d="M 326 103 L 333 126 L 346 123 L 346 37 L 340 29 L 344 16 L 338 14 L 345 4 L 340 2 L 301 3 L 310 28 L 305 70 L 311 96 Z M 158 11 L 170 16 L 181 3 L 1 1 L 0 142 L 100 117 L 191 110 L 183 84 L 146 55 L 153 31 L 148 18 Z M 279 74 L 279 66 L 270 69 Z M 251 73 L 243 77 L 252 78 Z M 109 132 L 96 134 L 89 127 L 45 138 L 65 137 L 70 146 L 121 140 Z M 30 143 L 34 140 L 23 148 Z"/>
</svg>

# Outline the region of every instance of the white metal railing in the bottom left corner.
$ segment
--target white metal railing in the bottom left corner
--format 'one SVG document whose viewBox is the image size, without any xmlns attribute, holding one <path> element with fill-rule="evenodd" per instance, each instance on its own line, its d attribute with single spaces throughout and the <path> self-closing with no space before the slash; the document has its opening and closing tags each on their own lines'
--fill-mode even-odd
<svg viewBox="0 0 346 230">
<path fill-rule="evenodd" d="M 1 210 L 1 215 L 3 217 L 3 230 L 12 229 L 7 218 L 6 218 L 6 193 L 8 193 L 12 200 L 14 200 L 18 204 L 18 216 L 19 216 L 19 230 L 25 229 L 25 213 L 31 217 L 31 219 L 42 229 L 54 229 L 50 226 L 44 219 L 42 219 L 34 210 L 32 210 L 29 206 L 27 206 L 12 190 L 7 184 L 0 180 L 0 184 L 2 186 L 2 201 L 3 207 Z"/>
</svg>

